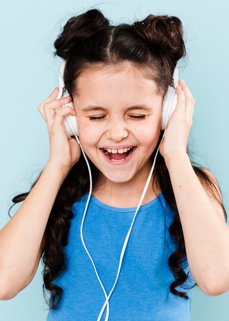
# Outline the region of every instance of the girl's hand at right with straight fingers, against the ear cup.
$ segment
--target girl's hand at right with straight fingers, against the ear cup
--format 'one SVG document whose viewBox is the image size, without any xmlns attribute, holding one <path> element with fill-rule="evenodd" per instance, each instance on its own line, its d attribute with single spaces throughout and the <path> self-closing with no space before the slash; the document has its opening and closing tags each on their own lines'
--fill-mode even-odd
<svg viewBox="0 0 229 321">
<path fill-rule="evenodd" d="M 195 99 L 183 79 L 179 79 L 178 85 L 176 108 L 170 117 L 159 148 L 164 159 L 174 157 L 178 152 L 186 154 L 189 132 L 193 124 Z"/>
</svg>

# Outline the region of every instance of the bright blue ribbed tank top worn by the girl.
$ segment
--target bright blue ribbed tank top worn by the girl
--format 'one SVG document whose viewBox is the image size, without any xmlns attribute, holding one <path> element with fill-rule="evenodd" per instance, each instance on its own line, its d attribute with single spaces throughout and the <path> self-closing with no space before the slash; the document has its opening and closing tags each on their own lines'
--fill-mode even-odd
<svg viewBox="0 0 229 321">
<path fill-rule="evenodd" d="M 53 281 L 63 289 L 63 294 L 59 309 L 50 309 L 47 321 L 96 321 L 106 302 L 80 238 L 87 198 L 88 193 L 72 206 L 68 245 L 63 247 L 68 268 Z M 93 195 L 90 197 L 82 233 L 107 295 L 114 285 L 122 246 L 136 209 L 109 206 Z M 178 247 L 169 233 L 174 216 L 162 193 L 140 206 L 109 299 L 109 321 L 190 320 L 192 289 L 176 287 L 186 292 L 188 300 L 170 292 L 174 275 L 168 258 Z M 188 273 L 188 261 L 185 263 L 182 266 Z M 189 276 L 183 284 L 188 287 L 195 283 L 191 273 Z M 106 312 L 107 308 L 101 321 L 105 320 Z"/>
</svg>

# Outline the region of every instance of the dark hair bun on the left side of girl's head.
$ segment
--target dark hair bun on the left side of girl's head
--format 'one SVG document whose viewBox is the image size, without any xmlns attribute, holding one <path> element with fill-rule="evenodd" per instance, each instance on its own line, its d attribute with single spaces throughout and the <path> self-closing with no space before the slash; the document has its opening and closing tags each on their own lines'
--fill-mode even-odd
<svg viewBox="0 0 229 321">
<path fill-rule="evenodd" d="M 108 19 L 97 9 L 71 17 L 54 43 L 54 55 L 66 59 L 71 49 L 76 48 L 80 41 L 90 38 L 108 26 Z"/>
</svg>

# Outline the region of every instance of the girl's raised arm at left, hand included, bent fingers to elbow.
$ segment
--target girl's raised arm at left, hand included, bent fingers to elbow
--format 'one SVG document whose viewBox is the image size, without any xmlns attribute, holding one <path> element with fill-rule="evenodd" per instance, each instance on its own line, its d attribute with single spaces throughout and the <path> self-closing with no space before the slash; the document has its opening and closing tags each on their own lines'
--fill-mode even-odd
<svg viewBox="0 0 229 321">
<path fill-rule="evenodd" d="M 76 139 L 68 139 L 64 118 L 76 115 L 72 97 L 57 99 L 56 89 L 38 106 L 47 123 L 50 152 L 36 185 L 7 225 L 0 231 L 0 299 L 14 297 L 32 280 L 44 247 L 44 232 L 56 195 L 80 157 Z M 42 241 L 42 243 L 41 243 Z"/>
</svg>

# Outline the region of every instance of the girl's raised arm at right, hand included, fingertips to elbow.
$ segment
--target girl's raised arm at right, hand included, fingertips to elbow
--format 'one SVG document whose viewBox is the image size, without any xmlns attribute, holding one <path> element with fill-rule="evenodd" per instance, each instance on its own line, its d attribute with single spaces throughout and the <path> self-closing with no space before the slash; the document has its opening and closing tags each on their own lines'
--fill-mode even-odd
<svg viewBox="0 0 229 321">
<path fill-rule="evenodd" d="M 219 295 L 229 289 L 229 227 L 186 153 L 195 99 L 183 79 L 178 85 L 176 108 L 159 151 L 170 174 L 190 272 L 205 294 Z"/>
</svg>

